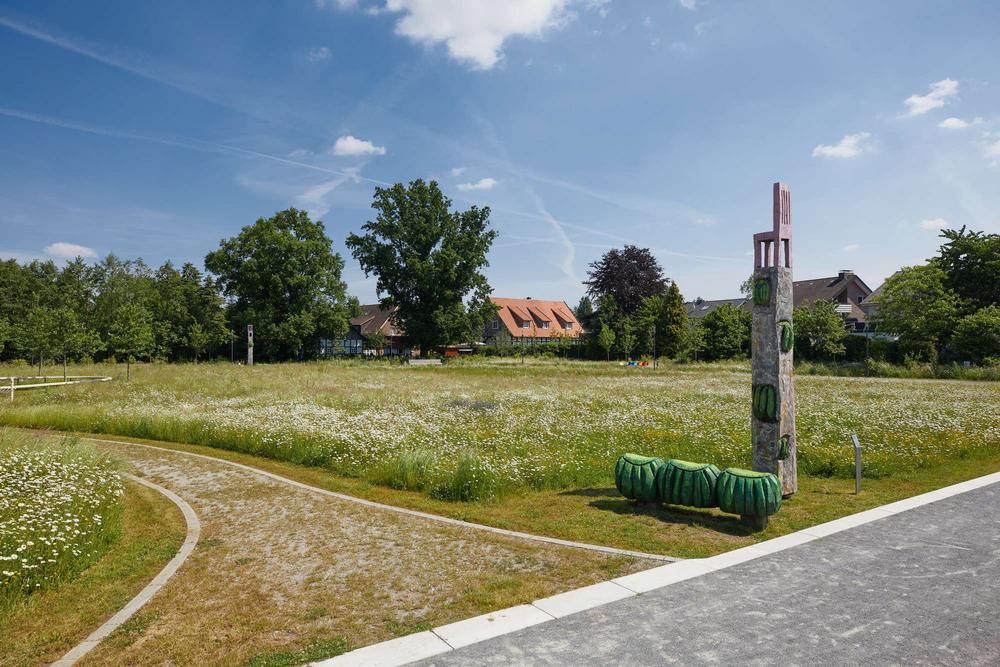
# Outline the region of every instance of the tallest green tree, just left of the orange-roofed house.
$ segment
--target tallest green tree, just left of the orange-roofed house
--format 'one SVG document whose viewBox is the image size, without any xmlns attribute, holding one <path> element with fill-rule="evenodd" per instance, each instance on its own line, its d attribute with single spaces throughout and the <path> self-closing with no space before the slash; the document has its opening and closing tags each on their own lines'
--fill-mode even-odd
<svg viewBox="0 0 1000 667">
<path fill-rule="evenodd" d="M 347 246 L 420 353 L 480 335 L 496 314 L 482 272 L 497 236 L 489 207 L 452 211 L 436 182 L 418 179 L 375 188 L 372 208 L 375 220 Z"/>
</svg>

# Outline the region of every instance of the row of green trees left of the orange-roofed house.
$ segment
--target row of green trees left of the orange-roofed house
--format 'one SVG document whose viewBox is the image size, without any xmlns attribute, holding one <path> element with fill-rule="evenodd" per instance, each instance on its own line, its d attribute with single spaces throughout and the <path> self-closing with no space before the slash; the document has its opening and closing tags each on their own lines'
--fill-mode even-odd
<svg viewBox="0 0 1000 667">
<path fill-rule="evenodd" d="M 482 273 L 496 238 L 489 208 L 451 210 L 437 183 L 376 188 L 376 219 L 347 246 L 378 279 L 384 307 L 424 354 L 467 342 L 495 311 Z M 0 360 L 115 359 L 198 361 L 246 352 L 308 359 L 320 341 L 343 338 L 358 300 L 347 294 L 343 257 L 321 221 L 294 208 L 260 218 L 223 239 L 204 261 L 152 269 L 141 259 L 109 255 L 0 262 Z"/>
</svg>

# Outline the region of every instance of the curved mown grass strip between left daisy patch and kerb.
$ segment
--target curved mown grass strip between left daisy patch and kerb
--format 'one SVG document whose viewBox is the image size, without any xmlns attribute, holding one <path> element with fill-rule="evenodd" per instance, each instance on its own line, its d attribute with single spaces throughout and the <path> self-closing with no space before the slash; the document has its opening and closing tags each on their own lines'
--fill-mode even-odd
<svg viewBox="0 0 1000 667">
<path fill-rule="evenodd" d="M 163 568 L 185 531 L 184 517 L 170 500 L 126 482 L 121 536 L 114 547 L 73 581 L 0 615 L 0 665 L 59 659 Z"/>
</svg>

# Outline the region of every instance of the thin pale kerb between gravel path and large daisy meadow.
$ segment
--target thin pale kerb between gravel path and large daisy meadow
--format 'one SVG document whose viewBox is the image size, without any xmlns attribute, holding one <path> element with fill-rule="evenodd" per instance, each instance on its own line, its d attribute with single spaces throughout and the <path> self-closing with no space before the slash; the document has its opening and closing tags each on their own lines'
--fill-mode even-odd
<svg viewBox="0 0 1000 667">
<path fill-rule="evenodd" d="M 364 498 L 357 498 L 355 496 L 349 496 L 346 493 L 338 493 L 336 491 L 328 491 L 327 489 L 321 489 L 318 486 L 310 486 L 309 484 L 303 484 L 302 482 L 296 482 L 294 479 L 289 479 L 287 477 L 282 477 L 281 475 L 276 475 L 273 472 L 267 472 L 266 470 L 261 470 L 260 468 L 254 468 L 253 466 L 244 465 L 242 463 L 236 463 L 235 461 L 228 461 L 226 459 L 216 458 L 214 456 L 207 456 L 205 454 L 196 454 L 194 452 L 186 452 L 183 449 L 170 449 L 169 447 L 157 447 L 155 445 L 144 445 L 139 442 L 129 442 L 127 440 L 103 440 L 101 438 L 90 438 L 87 436 L 79 436 L 81 440 L 87 440 L 90 442 L 106 442 L 114 445 L 129 445 L 132 447 L 145 447 L 147 449 L 156 449 L 161 452 L 171 452 L 173 454 L 182 454 L 184 456 L 193 456 L 195 458 L 204 459 L 206 461 L 212 461 L 213 463 L 222 463 L 234 468 L 239 468 L 247 472 L 253 473 L 255 475 L 260 475 L 261 477 L 267 477 L 268 479 L 273 479 L 275 481 L 281 482 L 282 484 L 288 484 L 305 491 L 311 491 L 313 493 L 321 493 L 325 496 L 330 496 L 331 498 L 338 498 L 340 500 L 347 501 L 349 503 L 357 503 L 358 505 L 364 505 L 365 507 L 371 507 L 374 509 L 385 510 L 387 512 L 395 512 L 397 514 L 406 514 L 407 516 L 420 517 L 421 519 L 427 519 L 429 521 L 437 521 L 439 523 L 446 523 L 451 526 L 460 526 L 462 528 L 472 528 L 474 530 L 484 530 L 490 533 L 495 533 L 497 535 L 503 535 L 505 537 L 515 537 L 521 540 L 531 540 L 534 542 L 545 542 L 547 544 L 556 544 L 561 547 L 572 547 L 574 549 L 587 549 L 588 551 L 598 551 L 600 553 L 610 554 L 612 556 L 628 556 L 630 558 L 643 558 L 646 560 L 656 560 L 664 563 L 674 563 L 680 558 L 673 558 L 672 556 L 661 556 L 659 554 L 648 554 L 643 551 L 630 551 L 628 549 L 618 549 L 616 547 L 605 547 L 599 544 L 587 544 L 585 542 L 571 542 L 570 540 L 560 540 L 557 537 L 546 537 L 545 535 L 532 535 L 531 533 L 522 533 L 516 530 L 507 530 L 506 528 L 497 528 L 496 526 L 486 526 L 481 523 L 472 523 L 471 521 L 462 521 L 461 519 L 452 519 L 446 516 L 440 516 L 438 514 L 430 514 L 429 512 L 420 512 L 418 510 L 406 509 L 405 507 L 396 507 L 395 505 L 386 505 L 384 503 L 377 503 L 374 500 L 365 500 Z"/>
</svg>

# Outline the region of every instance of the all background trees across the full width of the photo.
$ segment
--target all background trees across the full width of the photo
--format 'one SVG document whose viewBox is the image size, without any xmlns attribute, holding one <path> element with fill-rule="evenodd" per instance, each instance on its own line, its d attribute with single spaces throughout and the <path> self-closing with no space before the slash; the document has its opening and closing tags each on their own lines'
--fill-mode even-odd
<svg viewBox="0 0 1000 667">
<path fill-rule="evenodd" d="M 375 189 L 376 215 L 346 245 L 380 303 L 423 354 L 477 340 L 496 309 L 483 273 L 497 232 L 488 207 L 452 210 L 434 181 Z M 891 344 L 849 336 L 836 304 L 796 308 L 799 359 L 857 359 L 882 348 L 892 360 L 1000 358 L 1000 235 L 942 232 L 926 264 L 890 277 L 877 298 L 879 330 Z M 198 361 L 246 352 L 258 359 L 308 359 L 320 341 L 348 332 L 358 301 L 347 294 L 344 259 L 321 221 L 294 208 L 260 218 L 223 239 L 204 260 L 157 269 L 109 255 L 0 262 L 0 360 Z M 714 361 L 750 354 L 751 315 L 724 305 L 689 321 L 676 282 L 648 248 L 614 248 L 591 263 L 575 308 L 581 341 L 545 349 L 593 359 L 666 357 Z M 746 285 L 744 285 L 744 290 Z M 499 344 L 502 347 L 502 343 Z M 863 349 L 862 349 L 863 346 Z M 891 349 L 889 349 L 891 348 Z M 889 349 L 887 352 L 886 349 Z M 228 353 L 228 354 L 227 354 Z"/>
</svg>

